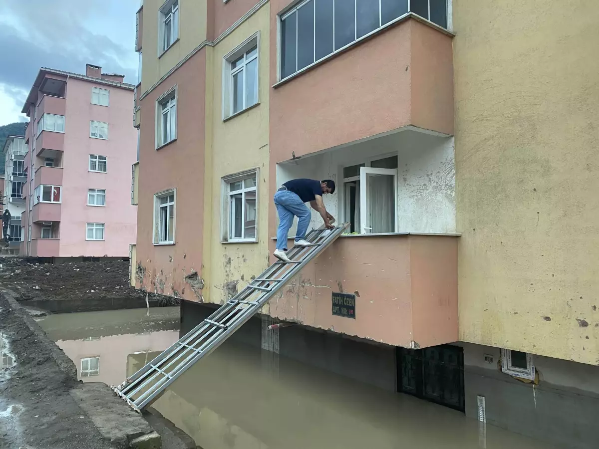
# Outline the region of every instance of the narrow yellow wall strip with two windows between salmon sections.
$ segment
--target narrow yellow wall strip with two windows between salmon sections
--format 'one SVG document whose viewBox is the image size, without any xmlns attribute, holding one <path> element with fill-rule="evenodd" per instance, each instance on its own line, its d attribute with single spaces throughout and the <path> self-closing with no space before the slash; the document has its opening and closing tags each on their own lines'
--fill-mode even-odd
<svg viewBox="0 0 599 449">
<path fill-rule="evenodd" d="M 226 6 L 226 5 L 225 5 Z M 243 22 L 216 47 L 208 49 L 206 148 L 204 172 L 204 301 L 223 304 L 268 265 L 268 57 L 269 5 Z M 223 57 L 259 32 L 259 105 L 223 122 Z M 227 78 L 228 79 L 228 78 Z M 222 243 L 222 177 L 258 168 L 255 243 Z M 184 242 L 183 242 L 184 243 Z"/>
</svg>

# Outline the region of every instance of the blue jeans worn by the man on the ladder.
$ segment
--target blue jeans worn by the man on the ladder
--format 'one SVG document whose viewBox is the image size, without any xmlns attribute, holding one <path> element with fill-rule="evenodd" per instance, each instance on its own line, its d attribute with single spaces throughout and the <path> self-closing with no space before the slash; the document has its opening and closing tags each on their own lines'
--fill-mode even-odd
<svg viewBox="0 0 599 449">
<path fill-rule="evenodd" d="M 277 229 L 277 250 L 287 249 L 287 236 L 291 225 L 294 224 L 294 216 L 298 217 L 298 231 L 295 233 L 295 241 L 305 238 L 305 232 L 310 225 L 312 214 L 299 196 L 289 190 L 281 190 L 274 194 L 274 205 L 279 213 L 279 229 Z"/>
</svg>

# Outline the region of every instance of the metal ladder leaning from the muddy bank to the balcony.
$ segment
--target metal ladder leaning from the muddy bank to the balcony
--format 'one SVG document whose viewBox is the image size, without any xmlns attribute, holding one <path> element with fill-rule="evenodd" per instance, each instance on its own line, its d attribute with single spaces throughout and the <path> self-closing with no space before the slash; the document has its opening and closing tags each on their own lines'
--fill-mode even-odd
<svg viewBox="0 0 599 449">
<path fill-rule="evenodd" d="M 347 225 L 341 225 L 330 230 L 311 231 L 306 236 L 310 246 L 293 247 L 287 252 L 291 262 L 273 263 L 241 292 L 229 299 L 226 304 L 152 362 L 119 386 L 110 388 L 135 411 L 141 412 L 144 407 L 158 399 L 164 390 L 193 363 L 210 354 L 256 314 L 287 281 L 334 242 L 346 227 Z"/>
</svg>

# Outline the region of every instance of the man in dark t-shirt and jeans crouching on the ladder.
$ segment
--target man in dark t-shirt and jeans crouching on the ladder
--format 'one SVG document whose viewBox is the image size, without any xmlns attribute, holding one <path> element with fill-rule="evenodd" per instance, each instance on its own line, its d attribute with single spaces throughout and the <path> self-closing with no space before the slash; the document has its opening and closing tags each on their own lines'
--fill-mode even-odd
<svg viewBox="0 0 599 449">
<path fill-rule="evenodd" d="M 305 240 L 305 233 L 310 225 L 311 213 L 304 203 L 309 202 L 311 207 L 318 211 L 325 222 L 326 229 L 333 229 L 334 217 L 326 211 L 322 195 L 335 193 L 335 181 L 316 181 L 313 179 L 294 179 L 287 181 L 274 194 L 274 205 L 279 213 L 279 229 L 277 230 L 277 248 L 273 256 L 283 262 L 289 262 L 287 251 L 287 238 L 289 229 L 298 217 L 298 230 L 295 233 L 295 246 L 309 246 Z"/>
</svg>

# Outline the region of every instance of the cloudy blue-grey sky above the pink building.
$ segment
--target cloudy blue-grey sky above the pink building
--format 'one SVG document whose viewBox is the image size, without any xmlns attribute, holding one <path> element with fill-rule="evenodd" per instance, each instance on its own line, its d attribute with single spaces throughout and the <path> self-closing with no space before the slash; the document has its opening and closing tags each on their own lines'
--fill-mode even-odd
<svg viewBox="0 0 599 449">
<path fill-rule="evenodd" d="M 0 0 L 0 125 L 21 114 L 40 67 L 84 74 L 86 63 L 137 82 L 140 0 Z"/>
</svg>

